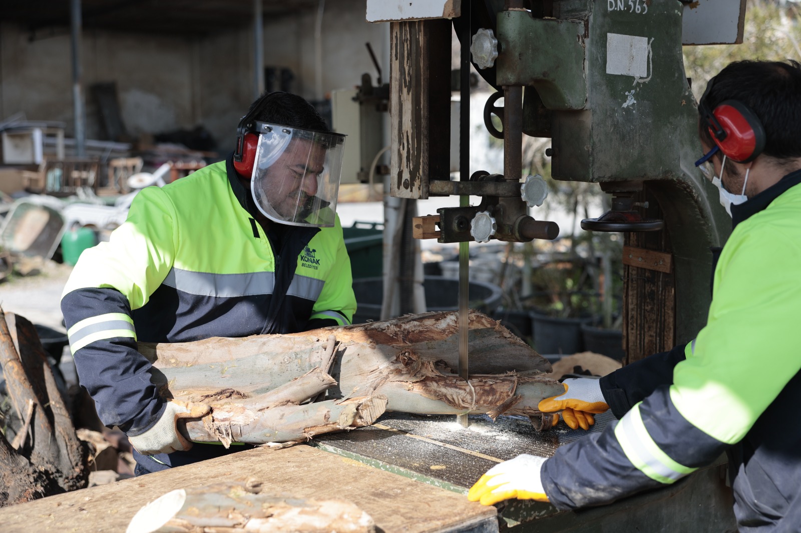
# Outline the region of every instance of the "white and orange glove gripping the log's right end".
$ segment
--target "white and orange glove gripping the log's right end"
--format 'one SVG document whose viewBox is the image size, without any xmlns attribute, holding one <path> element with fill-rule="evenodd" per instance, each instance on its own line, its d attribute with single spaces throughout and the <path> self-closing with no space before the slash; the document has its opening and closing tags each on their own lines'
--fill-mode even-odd
<svg viewBox="0 0 801 533">
<path fill-rule="evenodd" d="M 537 408 L 543 413 L 562 411 L 562 419 L 573 429 L 590 429 L 595 423 L 593 415 L 609 409 L 599 379 L 568 378 L 562 385 L 565 386 L 565 394 L 546 398 Z"/>
</svg>

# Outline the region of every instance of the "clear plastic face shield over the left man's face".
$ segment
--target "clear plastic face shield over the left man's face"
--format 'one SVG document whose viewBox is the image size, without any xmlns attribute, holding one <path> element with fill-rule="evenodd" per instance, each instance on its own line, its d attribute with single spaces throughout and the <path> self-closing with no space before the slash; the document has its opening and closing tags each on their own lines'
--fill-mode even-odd
<svg viewBox="0 0 801 533">
<path fill-rule="evenodd" d="M 340 188 L 344 135 L 256 122 L 251 176 L 258 209 L 292 226 L 331 227 Z"/>
</svg>

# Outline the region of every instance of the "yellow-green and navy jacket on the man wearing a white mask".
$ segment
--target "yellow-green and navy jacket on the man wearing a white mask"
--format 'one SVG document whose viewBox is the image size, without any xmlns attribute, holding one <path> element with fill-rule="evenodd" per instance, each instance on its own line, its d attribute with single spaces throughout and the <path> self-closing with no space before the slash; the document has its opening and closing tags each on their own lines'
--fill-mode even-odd
<svg viewBox="0 0 801 533">
<path fill-rule="evenodd" d="M 732 214 L 706 327 L 601 380 L 620 422 L 543 464 L 557 507 L 674 483 L 727 451 L 741 531 L 799 531 L 801 170 Z"/>
</svg>

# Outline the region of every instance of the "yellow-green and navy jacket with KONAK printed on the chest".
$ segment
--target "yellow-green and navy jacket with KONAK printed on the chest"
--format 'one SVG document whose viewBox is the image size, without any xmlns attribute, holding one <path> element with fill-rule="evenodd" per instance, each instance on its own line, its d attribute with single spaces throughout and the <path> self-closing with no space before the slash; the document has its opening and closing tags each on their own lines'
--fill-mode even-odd
<svg viewBox="0 0 801 533">
<path fill-rule="evenodd" d="M 107 426 L 130 435 L 161 411 L 142 342 L 292 333 L 348 324 L 356 311 L 339 218 L 273 224 L 248 210 L 231 161 L 137 194 L 110 242 L 85 250 L 62 295 L 81 385 Z"/>
</svg>

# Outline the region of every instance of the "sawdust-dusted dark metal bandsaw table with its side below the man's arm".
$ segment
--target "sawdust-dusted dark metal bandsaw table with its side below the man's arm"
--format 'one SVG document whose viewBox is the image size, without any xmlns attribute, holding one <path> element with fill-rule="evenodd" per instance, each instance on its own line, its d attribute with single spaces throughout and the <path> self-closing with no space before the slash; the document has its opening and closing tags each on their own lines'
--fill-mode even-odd
<svg viewBox="0 0 801 533">
<path fill-rule="evenodd" d="M 521 453 L 552 456 L 559 447 L 603 431 L 614 416 L 595 417 L 590 431 L 564 423 L 536 431 L 523 416 L 470 415 L 461 427 L 453 415 L 385 413 L 370 427 L 318 435 L 310 444 L 460 494 L 493 465 Z M 499 527 L 513 531 L 735 531 L 725 459 L 673 485 L 581 511 L 550 503 L 511 500 L 497 504 Z"/>
</svg>

